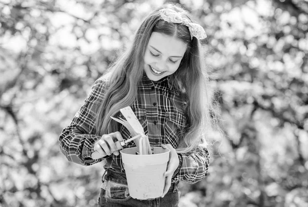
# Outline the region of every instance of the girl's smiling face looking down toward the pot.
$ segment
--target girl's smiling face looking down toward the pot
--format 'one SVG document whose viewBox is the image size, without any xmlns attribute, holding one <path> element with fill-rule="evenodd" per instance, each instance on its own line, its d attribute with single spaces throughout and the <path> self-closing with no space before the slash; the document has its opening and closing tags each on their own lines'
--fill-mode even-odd
<svg viewBox="0 0 308 207">
<path fill-rule="evenodd" d="M 157 81 L 175 73 L 186 48 L 187 44 L 174 36 L 153 32 L 144 54 L 144 71 L 147 77 Z"/>
</svg>

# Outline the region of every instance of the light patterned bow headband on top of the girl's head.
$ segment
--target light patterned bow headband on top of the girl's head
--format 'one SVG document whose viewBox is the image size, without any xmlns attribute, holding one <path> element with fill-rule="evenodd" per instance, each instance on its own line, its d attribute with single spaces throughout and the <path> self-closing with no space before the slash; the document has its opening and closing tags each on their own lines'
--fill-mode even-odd
<svg viewBox="0 0 308 207">
<path fill-rule="evenodd" d="M 169 23 L 181 23 L 188 27 L 191 39 L 192 37 L 196 37 L 197 39 L 204 39 L 207 37 L 204 29 L 201 25 L 196 23 L 190 23 L 187 18 L 182 18 L 178 12 L 172 9 L 161 9 L 159 10 L 161 17 Z"/>
</svg>

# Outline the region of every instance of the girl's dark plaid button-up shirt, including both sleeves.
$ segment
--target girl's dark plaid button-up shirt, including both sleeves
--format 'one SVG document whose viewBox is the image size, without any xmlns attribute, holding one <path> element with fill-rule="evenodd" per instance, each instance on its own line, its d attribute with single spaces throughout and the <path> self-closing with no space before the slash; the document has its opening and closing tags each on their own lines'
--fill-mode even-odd
<svg viewBox="0 0 308 207">
<path fill-rule="evenodd" d="M 94 109 L 102 103 L 107 87 L 107 81 L 101 79 L 95 81 L 84 105 L 75 114 L 70 125 L 63 129 L 59 137 L 60 149 L 69 161 L 91 165 L 106 158 L 111 168 L 125 172 L 121 154 L 119 156 L 111 154 L 96 160 L 91 158 L 94 143 L 101 138 L 95 135 Z M 138 100 L 130 107 L 148 136 L 150 145 L 160 147 L 162 143 L 169 143 L 173 148 L 177 148 L 179 139 L 183 137 L 184 129 L 188 126 L 181 95 L 170 84 L 169 76 L 159 81 L 152 81 L 145 75 L 138 90 Z M 124 118 L 121 113 L 119 116 Z M 119 131 L 124 139 L 131 137 L 124 126 L 120 125 Z M 133 141 L 125 146 L 129 147 L 136 147 Z M 180 180 L 195 183 L 206 176 L 209 164 L 207 149 L 198 146 L 191 152 L 178 156 L 180 164 L 172 177 L 172 182 Z"/>
</svg>

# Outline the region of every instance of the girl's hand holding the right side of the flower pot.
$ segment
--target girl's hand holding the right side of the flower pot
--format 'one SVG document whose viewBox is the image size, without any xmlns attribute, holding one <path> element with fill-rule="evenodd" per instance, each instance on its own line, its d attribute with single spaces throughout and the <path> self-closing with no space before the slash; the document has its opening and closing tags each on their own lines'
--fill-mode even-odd
<svg viewBox="0 0 308 207">
<path fill-rule="evenodd" d="M 175 171 L 179 167 L 179 156 L 176 150 L 171 146 L 171 144 L 162 144 L 162 148 L 164 149 L 169 149 L 170 150 L 170 155 L 169 155 L 169 161 L 168 161 L 168 166 L 167 166 L 167 171 L 164 173 L 165 178 L 165 188 L 163 191 L 162 197 L 164 197 L 170 186 L 171 186 L 171 178 L 174 175 Z"/>
</svg>

